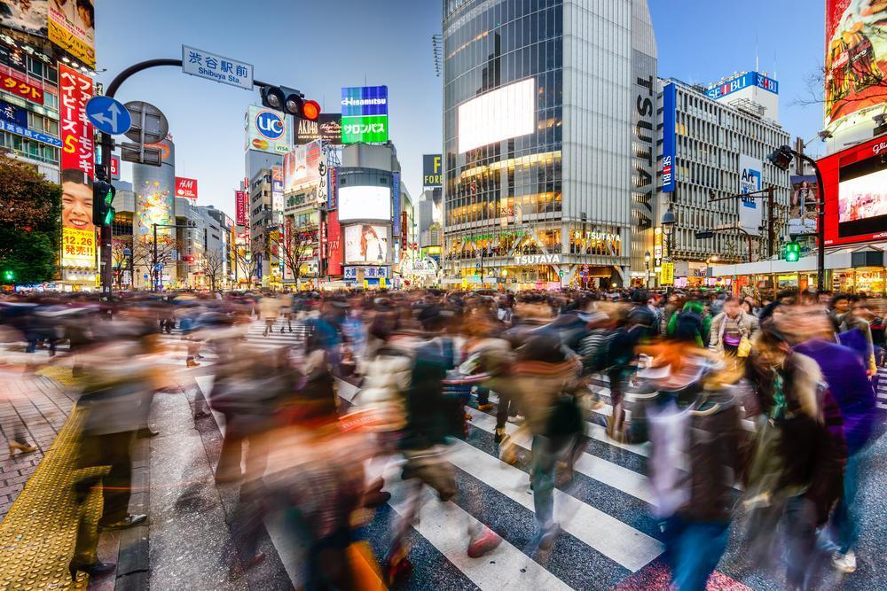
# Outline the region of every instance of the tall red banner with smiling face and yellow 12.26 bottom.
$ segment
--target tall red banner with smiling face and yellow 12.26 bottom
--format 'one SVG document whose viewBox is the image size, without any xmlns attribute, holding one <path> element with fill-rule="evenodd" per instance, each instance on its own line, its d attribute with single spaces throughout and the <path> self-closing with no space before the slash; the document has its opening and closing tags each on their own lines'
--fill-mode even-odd
<svg viewBox="0 0 887 591">
<path fill-rule="evenodd" d="M 59 64 L 59 127 L 61 128 L 62 267 L 96 268 L 96 226 L 92 221 L 95 146 L 86 102 L 92 80 Z"/>
</svg>

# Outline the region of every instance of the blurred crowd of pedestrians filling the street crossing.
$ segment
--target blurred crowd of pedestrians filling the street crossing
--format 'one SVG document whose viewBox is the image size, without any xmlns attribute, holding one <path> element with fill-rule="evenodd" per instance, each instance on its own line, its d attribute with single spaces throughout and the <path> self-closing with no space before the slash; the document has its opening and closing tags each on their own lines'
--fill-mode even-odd
<svg viewBox="0 0 887 591">
<path fill-rule="evenodd" d="M 226 428 L 216 483 L 239 487 L 232 568 L 263 561 L 263 518 L 282 510 L 308 548 L 306 588 L 357 588 L 376 564 L 387 584 L 404 579 L 423 488 L 444 502 L 467 494 L 448 460 L 470 432 L 467 408 L 496 417 L 503 462 L 516 462 L 515 441 L 531 438 L 536 531 L 525 551 L 544 556 L 561 532 L 554 489 L 569 487 L 586 425 L 608 396 L 608 437 L 648 446 L 650 510 L 676 588 L 704 589 L 742 528 L 734 540 L 758 568 L 808 589 L 827 569 L 856 569 L 866 526 L 860 457 L 883 425 L 881 307 L 861 295 L 797 291 L 414 291 L 182 294 L 113 307 L 9 299 L 0 317 L 5 339 L 22 341 L 26 355 L 69 340 L 90 413 L 82 462 L 111 465 L 112 491 L 129 486 L 126 450 L 150 436 L 151 396 L 165 387 L 157 333 L 182 333 L 187 368 L 217 355 L 208 404 Z M 265 338 L 302 336 L 270 354 L 245 339 L 251 322 L 263 323 Z M 20 429 L 2 426 L 10 449 L 27 453 Z M 373 556 L 362 527 L 392 494 L 401 518 L 389 550 Z M 128 514 L 127 498 L 106 492 L 99 525 L 143 521 Z M 502 541 L 483 525 L 484 510 L 475 512 L 480 526 L 448 525 L 465 528 L 471 558 Z M 104 568 L 92 540 L 78 537 L 72 573 Z"/>
</svg>

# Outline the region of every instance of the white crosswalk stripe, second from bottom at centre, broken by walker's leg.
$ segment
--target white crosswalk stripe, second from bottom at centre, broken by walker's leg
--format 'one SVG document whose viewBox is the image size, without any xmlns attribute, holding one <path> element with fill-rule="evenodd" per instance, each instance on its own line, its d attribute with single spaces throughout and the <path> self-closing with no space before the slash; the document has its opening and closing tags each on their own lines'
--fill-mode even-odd
<svg viewBox="0 0 887 591">
<path fill-rule="evenodd" d="M 448 459 L 459 470 L 533 510 L 533 497 L 527 494 L 529 479 L 522 470 L 458 440 Z M 554 489 L 553 495 L 554 515 L 561 529 L 629 571 L 640 571 L 662 554 L 663 544 L 659 540 L 560 490 Z"/>
</svg>

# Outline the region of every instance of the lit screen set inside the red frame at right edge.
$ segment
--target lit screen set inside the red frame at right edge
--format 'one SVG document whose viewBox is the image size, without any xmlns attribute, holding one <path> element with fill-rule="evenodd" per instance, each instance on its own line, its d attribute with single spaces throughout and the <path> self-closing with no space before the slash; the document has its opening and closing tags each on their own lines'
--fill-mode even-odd
<svg viewBox="0 0 887 591">
<path fill-rule="evenodd" d="M 887 164 L 869 158 L 841 168 L 837 234 L 853 237 L 887 230 Z"/>
</svg>

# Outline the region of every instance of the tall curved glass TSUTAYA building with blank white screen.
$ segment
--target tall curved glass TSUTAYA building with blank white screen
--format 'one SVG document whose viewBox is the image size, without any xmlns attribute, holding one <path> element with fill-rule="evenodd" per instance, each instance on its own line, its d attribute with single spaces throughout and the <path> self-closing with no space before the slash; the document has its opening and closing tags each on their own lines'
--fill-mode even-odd
<svg viewBox="0 0 887 591">
<path fill-rule="evenodd" d="M 444 0 L 450 284 L 624 285 L 653 245 L 647 0 Z"/>
</svg>

